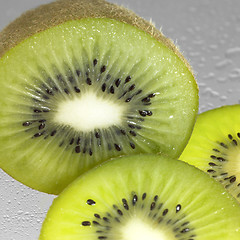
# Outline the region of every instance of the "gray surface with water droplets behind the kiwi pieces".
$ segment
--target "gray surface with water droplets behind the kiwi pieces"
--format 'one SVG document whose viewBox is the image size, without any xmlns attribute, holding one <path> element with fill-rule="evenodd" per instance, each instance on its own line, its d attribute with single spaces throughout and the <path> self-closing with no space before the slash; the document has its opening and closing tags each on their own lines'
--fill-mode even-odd
<svg viewBox="0 0 240 240">
<path fill-rule="evenodd" d="M 49 0 L 0 0 L 0 29 Z M 239 0 L 112 0 L 152 19 L 190 61 L 200 112 L 240 100 Z M 54 196 L 29 189 L 0 170 L 0 239 L 35 240 Z"/>
</svg>

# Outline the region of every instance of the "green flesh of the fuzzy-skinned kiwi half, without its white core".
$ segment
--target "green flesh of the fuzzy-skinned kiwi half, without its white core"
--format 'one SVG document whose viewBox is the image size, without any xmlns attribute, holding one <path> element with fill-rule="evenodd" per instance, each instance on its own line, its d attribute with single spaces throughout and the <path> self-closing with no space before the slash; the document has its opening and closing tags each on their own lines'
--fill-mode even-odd
<svg viewBox="0 0 240 240">
<path fill-rule="evenodd" d="M 103 73 L 102 66 L 106 66 Z M 146 33 L 110 19 L 67 22 L 37 34 L 0 60 L 0 72 L 0 167 L 48 193 L 61 192 L 81 173 L 110 157 L 140 152 L 179 156 L 197 113 L 197 87 L 185 64 Z M 128 76 L 131 81 L 124 84 Z M 119 87 L 116 79 L 121 79 Z M 133 84 L 134 90 L 129 91 Z M 137 94 L 138 90 L 142 92 Z M 53 121 L 59 103 L 92 91 L 126 106 L 120 126 L 83 133 Z M 155 97 L 145 105 L 142 100 L 149 94 Z M 142 117 L 139 111 L 143 110 L 152 116 Z M 39 119 L 46 120 L 44 129 L 39 130 Z M 27 122 L 32 124 L 24 127 Z M 133 130 L 129 124 L 141 129 Z M 127 134 L 116 134 L 120 129 Z M 101 146 L 96 131 L 101 133 Z M 34 137 L 38 133 L 42 135 Z"/>
</svg>

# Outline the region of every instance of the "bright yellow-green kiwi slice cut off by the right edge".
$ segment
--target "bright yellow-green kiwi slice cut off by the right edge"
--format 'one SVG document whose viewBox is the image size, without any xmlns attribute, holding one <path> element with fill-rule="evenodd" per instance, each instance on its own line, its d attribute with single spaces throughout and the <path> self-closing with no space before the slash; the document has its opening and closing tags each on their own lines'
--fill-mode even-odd
<svg viewBox="0 0 240 240">
<path fill-rule="evenodd" d="M 200 114 L 180 159 L 207 172 L 240 202 L 240 105 Z"/>
</svg>

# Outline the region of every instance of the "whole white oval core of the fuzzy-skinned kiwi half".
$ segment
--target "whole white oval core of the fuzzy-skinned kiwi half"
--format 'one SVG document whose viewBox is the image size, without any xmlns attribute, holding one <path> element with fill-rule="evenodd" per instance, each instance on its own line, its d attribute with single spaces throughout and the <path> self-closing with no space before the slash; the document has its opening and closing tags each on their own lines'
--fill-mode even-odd
<svg viewBox="0 0 240 240">
<path fill-rule="evenodd" d="M 59 103 L 55 122 L 89 132 L 121 124 L 125 107 L 96 96 L 94 92 Z"/>
</svg>

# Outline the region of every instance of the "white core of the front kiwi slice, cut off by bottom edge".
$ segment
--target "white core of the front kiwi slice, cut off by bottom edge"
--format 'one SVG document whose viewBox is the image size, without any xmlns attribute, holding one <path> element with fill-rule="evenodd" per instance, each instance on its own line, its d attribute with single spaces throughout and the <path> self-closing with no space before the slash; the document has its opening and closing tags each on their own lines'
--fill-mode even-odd
<svg viewBox="0 0 240 240">
<path fill-rule="evenodd" d="M 169 229 L 157 228 L 151 226 L 140 218 L 133 218 L 121 229 L 122 240 L 174 240 L 175 237 L 169 232 Z"/>
</svg>

